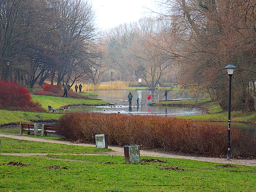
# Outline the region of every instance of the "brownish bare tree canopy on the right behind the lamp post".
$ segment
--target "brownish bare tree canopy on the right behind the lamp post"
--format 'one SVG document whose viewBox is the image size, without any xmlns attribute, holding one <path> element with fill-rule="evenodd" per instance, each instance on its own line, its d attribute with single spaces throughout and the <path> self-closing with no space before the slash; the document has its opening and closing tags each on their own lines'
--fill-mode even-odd
<svg viewBox="0 0 256 192">
<path fill-rule="evenodd" d="M 163 5 L 179 34 L 183 83 L 206 89 L 226 111 L 224 66 L 235 65 L 232 110 L 255 111 L 247 90 L 255 81 L 255 0 L 165 0 Z"/>
</svg>

